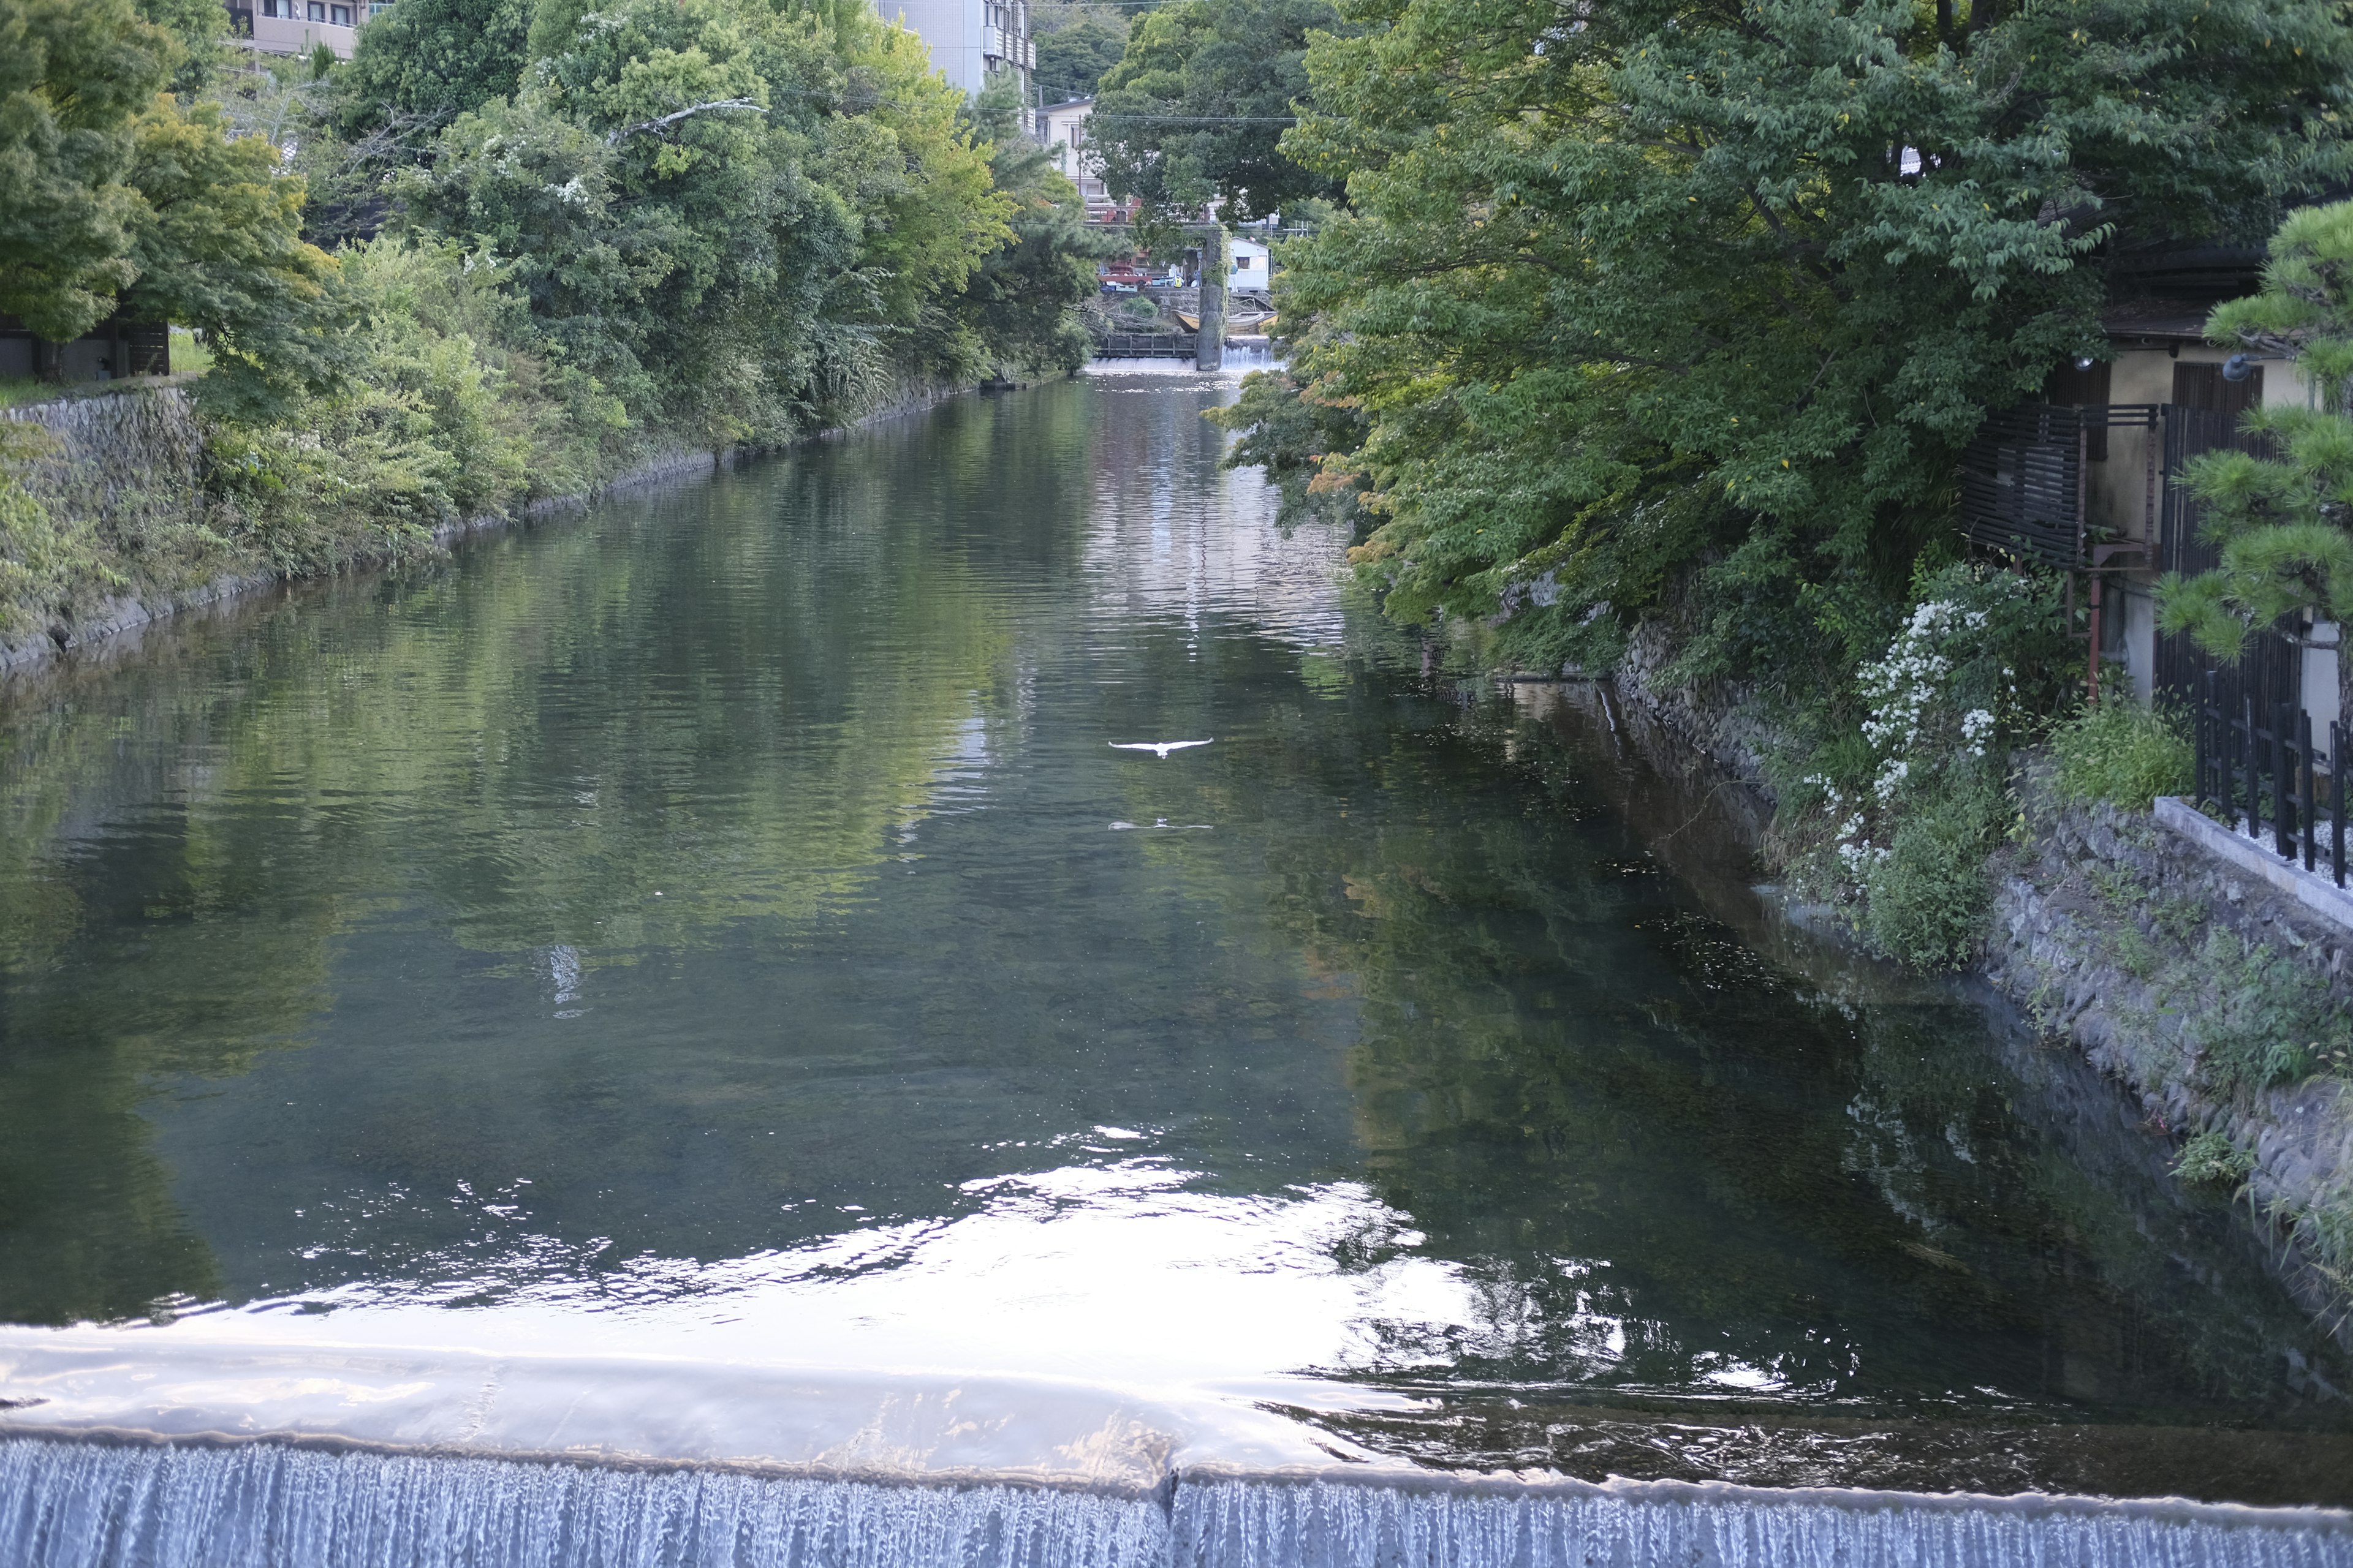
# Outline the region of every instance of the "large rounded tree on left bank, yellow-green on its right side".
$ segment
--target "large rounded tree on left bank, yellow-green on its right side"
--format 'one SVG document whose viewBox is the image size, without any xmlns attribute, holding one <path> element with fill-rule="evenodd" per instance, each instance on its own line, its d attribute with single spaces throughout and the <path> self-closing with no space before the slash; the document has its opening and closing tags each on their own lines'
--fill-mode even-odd
<svg viewBox="0 0 2353 1568">
<path fill-rule="evenodd" d="M 955 299 L 1009 200 L 922 42 L 871 12 L 548 0 L 527 85 L 402 176 L 642 425 L 781 440 L 896 374 L 974 376 Z"/>
</svg>

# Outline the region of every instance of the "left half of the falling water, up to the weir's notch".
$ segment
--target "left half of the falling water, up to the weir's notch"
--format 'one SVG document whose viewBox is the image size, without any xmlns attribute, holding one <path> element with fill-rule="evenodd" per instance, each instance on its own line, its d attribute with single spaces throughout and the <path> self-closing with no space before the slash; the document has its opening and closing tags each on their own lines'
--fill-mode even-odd
<svg viewBox="0 0 2353 1568">
<path fill-rule="evenodd" d="M 7 1568 L 1146 1568 L 1158 1497 L 0 1441 Z"/>
</svg>

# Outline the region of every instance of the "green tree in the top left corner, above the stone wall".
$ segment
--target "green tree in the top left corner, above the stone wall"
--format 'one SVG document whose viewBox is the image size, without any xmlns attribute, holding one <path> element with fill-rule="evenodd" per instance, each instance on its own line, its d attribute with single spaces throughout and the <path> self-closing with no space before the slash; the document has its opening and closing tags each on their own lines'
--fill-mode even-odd
<svg viewBox="0 0 2353 1568">
<path fill-rule="evenodd" d="M 129 0 L 0 0 L 0 310 L 78 339 L 136 277 L 132 122 L 179 47 Z"/>
</svg>

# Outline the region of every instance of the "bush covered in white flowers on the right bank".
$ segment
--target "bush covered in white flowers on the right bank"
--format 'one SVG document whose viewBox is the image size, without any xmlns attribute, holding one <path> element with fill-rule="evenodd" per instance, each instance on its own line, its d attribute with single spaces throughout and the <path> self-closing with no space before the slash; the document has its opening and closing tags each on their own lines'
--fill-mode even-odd
<svg viewBox="0 0 2353 1568">
<path fill-rule="evenodd" d="M 1887 957 L 1951 969 L 1984 922 L 2009 748 L 2049 708 L 2066 639 L 2042 578 L 1960 564 L 1915 595 L 1857 670 L 1857 729 L 1833 736 L 1791 809 L 1809 823 L 1800 882 Z"/>
</svg>

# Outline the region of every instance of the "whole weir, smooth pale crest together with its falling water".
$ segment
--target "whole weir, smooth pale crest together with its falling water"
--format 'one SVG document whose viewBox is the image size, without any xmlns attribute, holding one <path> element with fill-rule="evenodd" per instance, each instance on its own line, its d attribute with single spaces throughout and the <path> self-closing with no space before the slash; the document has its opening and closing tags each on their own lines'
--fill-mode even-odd
<svg viewBox="0 0 2353 1568">
<path fill-rule="evenodd" d="M 1240 1399 L 0 1331 L 7 1568 L 2332 1568 L 2353 1514 L 1417 1469 Z"/>
</svg>

